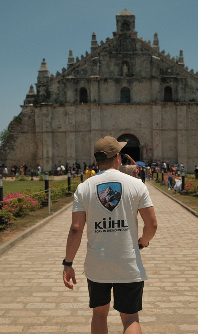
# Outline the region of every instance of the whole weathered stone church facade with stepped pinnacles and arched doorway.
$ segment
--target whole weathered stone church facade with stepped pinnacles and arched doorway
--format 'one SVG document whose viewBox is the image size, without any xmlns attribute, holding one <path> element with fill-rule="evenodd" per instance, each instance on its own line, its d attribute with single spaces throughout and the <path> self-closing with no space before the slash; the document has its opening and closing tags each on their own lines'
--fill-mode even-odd
<svg viewBox="0 0 198 334">
<path fill-rule="evenodd" d="M 198 164 L 198 73 L 138 38 L 135 16 L 116 15 L 117 31 L 67 69 L 49 73 L 45 59 L 33 86 L 9 125 L 0 149 L 7 166 L 26 164 L 53 169 L 54 164 L 93 161 L 94 142 L 111 135 L 128 142 L 124 149 L 136 161 L 183 162 L 193 172 Z"/>
</svg>

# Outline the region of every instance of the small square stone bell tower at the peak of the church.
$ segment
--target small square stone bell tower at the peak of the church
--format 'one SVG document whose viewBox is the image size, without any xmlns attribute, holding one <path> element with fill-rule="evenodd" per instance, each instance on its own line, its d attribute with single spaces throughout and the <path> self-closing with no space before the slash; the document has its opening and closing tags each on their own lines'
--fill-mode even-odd
<svg viewBox="0 0 198 334">
<path fill-rule="evenodd" d="M 134 31 L 135 15 L 124 9 L 116 15 L 117 32 Z"/>
</svg>

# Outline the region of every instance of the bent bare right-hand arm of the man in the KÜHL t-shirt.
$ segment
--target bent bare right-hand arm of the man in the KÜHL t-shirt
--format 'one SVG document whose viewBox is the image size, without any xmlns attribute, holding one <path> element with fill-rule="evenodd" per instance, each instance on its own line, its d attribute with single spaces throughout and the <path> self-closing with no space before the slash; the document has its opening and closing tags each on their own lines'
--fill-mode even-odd
<svg viewBox="0 0 198 334">
<path fill-rule="evenodd" d="M 144 221 L 143 232 L 139 243 L 143 246 L 146 246 L 155 235 L 157 230 L 157 219 L 153 206 L 142 208 L 138 211 L 140 212 L 140 215 Z"/>
</svg>

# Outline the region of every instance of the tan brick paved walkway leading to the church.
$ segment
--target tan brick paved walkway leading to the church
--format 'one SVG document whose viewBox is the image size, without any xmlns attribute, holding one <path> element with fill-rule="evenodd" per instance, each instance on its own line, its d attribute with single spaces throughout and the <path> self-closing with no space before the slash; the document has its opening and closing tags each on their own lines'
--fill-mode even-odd
<svg viewBox="0 0 198 334">
<path fill-rule="evenodd" d="M 158 219 L 141 251 L 145 282 L 140 322 L 144 334 L 198 333 L 198 218 L 148 184 Z M 83 272 L 84 231 L 74 260 L 77 285 L 62 282 L 71 208 L 0 257 L 0 333 L 90 333 L 91 310 Z M 139 218 L 140 231 L 143 223 Z M 122 333 L 111 306 L 109 333 Z"/>
</svg>

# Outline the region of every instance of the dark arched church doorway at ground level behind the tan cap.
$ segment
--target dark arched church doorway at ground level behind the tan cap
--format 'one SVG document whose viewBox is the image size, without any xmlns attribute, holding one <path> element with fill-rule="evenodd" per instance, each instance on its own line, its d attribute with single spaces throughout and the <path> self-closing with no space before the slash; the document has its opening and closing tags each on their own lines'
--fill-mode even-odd
<svg viewBox="0 0 198 334">
<path fill-rule="evenodd" d="M 118 137 L 117 140 L 118 142 L 127 142 L 127 145 L 122 149 L 122 153 L 127 153 L 135 161 L 140 161 L 140 142 L 135 136 L 126 134 Z"/>
</svg>

